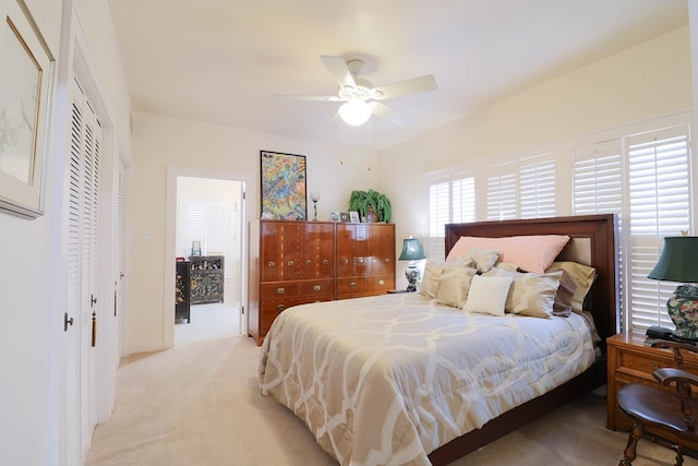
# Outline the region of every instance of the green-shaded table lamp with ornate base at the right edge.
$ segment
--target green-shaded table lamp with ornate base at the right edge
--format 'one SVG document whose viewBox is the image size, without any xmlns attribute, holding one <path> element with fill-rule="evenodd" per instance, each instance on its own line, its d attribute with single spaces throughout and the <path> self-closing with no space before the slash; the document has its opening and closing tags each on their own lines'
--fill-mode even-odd
<svg viewBox="0 0 698 466">
<path fill-rule="evenodd" d="M 659 262 L 647 277 L 683 284 L 666 301 L 666 311 L 676 325 L 676 338 L 698 340 L 698 237 L 664 238 Z"/>
</svg>

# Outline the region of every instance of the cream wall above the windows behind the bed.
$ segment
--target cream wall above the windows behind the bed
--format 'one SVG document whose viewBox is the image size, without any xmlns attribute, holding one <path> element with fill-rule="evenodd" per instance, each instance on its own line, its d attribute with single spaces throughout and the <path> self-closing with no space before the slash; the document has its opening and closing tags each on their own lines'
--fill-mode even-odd
<svg viewBox="0 0 698 466">
<path fill-rule="evenodd" d="M 381 188 L 394 200 L 396 235 L 399 239 L 429 232 L 425 174 L 453 171 L 469 160 L 484 165 L 693 105 L 688 27 L 501 99 L 381 153 L 380 171 L 392 174 L 381 178 Z M 406 285 L 401 265 L 398 278 Z"/>
</svg>

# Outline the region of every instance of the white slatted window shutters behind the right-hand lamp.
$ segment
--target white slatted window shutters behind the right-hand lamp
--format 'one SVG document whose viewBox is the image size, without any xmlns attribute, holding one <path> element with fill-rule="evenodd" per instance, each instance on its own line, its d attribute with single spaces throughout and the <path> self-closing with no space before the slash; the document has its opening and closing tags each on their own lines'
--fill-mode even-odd
<svg viewBox="0 0 698 466">
<path fill-rule="evenodd" d="M 676 287 L 647 278 L 665 236 L 693 224 L 688 126 L 575 150 L 574 213 L 619 214 L 624 327 L 673 327 L 666 300 Z"/>
</svg>

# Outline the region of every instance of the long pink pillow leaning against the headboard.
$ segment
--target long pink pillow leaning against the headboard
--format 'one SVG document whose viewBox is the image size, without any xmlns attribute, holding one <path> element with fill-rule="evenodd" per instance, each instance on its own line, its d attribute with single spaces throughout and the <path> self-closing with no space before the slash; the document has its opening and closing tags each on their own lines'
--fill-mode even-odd
<svg viewBox="0 0 698 466">
<path fill-rule="evenodd" d="M 458 256 L 468 256 L 472 248 L 495 250 L 500 262 L 509 262 L 526 272 L 542 274 L 553 263 L 559 251 L 569 241 L 567 235 L 509 236 L 504 238 L 483 238 L 461 236 L 453 247 L 446 261 Z"/>
</svg>

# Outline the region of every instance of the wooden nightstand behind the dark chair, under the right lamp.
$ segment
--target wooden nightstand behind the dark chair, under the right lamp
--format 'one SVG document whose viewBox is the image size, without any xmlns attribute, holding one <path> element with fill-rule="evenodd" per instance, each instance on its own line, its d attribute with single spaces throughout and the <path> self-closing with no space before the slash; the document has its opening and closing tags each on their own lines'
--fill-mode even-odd
<svg viewBox="0 0 698 466">
<path fill-rule="evenodd" d="M 645 346 L 646 336 L 639 333 L 621 333 L 606 339 L 607 344 L 607 395 L 606 427 L 613 430 L 627 430 L 630 419 L 618 408 L 616 393 L 626 383 L 645 383 L 661 386 L 652 377 L 657 368 L 675 368 L 674 354 L 669 349 Z M 684 369 L 698 374 L 698 357 L 683 351 Z M 664 387 L 675 391 L 674 386 Z M 657 434 L 650 427 L 650 434 Z M 667 439 L 672 440 L 672 439 Z M 698 445 L 691 445 L 696 447 Z"/>
</svg>

